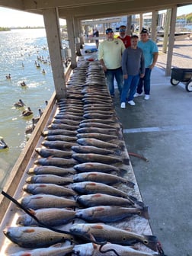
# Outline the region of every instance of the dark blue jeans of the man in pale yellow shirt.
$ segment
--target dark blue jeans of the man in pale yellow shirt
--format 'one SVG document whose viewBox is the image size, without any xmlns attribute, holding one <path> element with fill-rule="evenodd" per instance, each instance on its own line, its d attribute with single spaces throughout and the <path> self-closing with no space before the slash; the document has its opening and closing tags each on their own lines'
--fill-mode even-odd
<svg viewBox="0 0 192 256">
<path fill-rule="evenodd" d="M 118 90 L 121 95 L 121 91 L 123 88 L 123 72 L 121 68 L 118 69 L 107 69 L 105 72 L 105 76 L 107 78 L 107 85 L 110 91 L 110 95 L 114 96 L 114 78 L 117 81 Z"/>
</svg>

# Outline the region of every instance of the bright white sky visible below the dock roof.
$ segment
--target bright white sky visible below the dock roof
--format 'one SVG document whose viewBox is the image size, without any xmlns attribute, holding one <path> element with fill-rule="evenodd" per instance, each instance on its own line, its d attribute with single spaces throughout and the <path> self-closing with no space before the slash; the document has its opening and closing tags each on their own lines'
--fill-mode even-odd
<svg viewBox="0 0 192 256">
<path fill-rule="evenodd" d="M 192 13 L 192 5 L 178 8 L 177 15 Z M 65 20 L 60 20 L 60 24 L 66 24 Z M 30 14 L 24 11 L 15 11 L 10 8 L 0 7 L 0 27 L 43 27 L 43 16 Z"/>
</svg>

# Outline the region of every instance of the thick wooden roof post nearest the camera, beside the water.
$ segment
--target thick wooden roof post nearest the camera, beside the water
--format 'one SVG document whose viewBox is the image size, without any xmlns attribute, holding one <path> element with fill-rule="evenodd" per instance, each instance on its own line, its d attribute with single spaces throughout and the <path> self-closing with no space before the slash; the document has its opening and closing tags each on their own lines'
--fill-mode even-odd
<svg viewBox="0 0 192 256">
<path fill-rule="evenodd" d="M 43 10 L 43 19 L 46 29 L 46 38 L 49 46 L 53 80 L 56 89 L 56 98 L 66 98 L 66 78 L 62 63 L 62 43 L 57 8 Z"/>
</svg>

